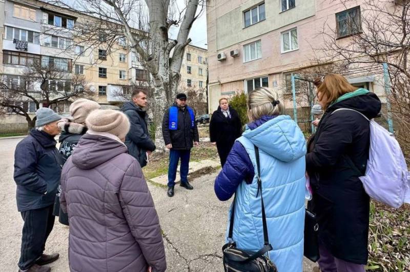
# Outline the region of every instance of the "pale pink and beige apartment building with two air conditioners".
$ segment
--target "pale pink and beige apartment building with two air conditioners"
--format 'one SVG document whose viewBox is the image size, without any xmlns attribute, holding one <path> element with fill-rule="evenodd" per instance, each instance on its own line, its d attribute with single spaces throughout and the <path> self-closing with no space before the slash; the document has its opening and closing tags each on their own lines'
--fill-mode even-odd
<svg viewBox="0 0 410 272">
<path fill-rule="evenodd" d="M 337 42 L 346 42 L 361 31 L 364 2 L 209 0 L 210 109 L 217 107 L 221 96 L 248 93 L 259 86 L 280 94 L 291 92 L 292 72 L 322 57 L 314 49 L 323 44 L 323 27 L 336 32 Z M 384 95 L 380 75 L 357 74 L 348 80 Z"/>
</svg>

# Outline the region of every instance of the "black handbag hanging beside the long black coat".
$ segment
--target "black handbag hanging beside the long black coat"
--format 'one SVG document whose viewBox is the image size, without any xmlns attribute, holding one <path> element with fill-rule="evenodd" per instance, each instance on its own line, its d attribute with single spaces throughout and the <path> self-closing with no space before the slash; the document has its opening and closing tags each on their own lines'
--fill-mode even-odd
<svg viewBox="0 0 410 272">
<path fill-rule="evenodd" d="M 306 209 L 304 217 L 303 255 L 312 262 L 316 262 L 320 257 L 319 242 L 317 236 L 318 230 L 319 225 L 316 221 L 316 215 Z"/>
</svg>

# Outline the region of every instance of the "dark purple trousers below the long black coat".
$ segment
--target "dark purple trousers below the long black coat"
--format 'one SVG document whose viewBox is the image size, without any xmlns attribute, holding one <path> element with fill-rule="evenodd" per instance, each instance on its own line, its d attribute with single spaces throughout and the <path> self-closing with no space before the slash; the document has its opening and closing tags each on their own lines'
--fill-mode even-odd
<svg viewBox="0 0 410 272">
<path fill-rule="evenodd" d="M 351 263 L 334 257 L 319 240 L 320 259 L 317 261 L 321 272 L 365 272 L 363 264 Z"/>
</svg>

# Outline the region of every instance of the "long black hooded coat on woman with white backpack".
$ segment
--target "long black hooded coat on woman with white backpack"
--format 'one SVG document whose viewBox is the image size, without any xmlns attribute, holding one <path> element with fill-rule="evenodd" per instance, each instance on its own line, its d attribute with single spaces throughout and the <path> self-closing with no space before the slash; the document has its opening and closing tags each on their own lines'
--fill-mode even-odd
<svg viewBox="0 0 410 272">
<path fill-rule="evenodd" d="M 316 213 L 319 239 L 333 256 L 366 264 L 370 198 L 359 176 L 366 169 L 370 145 L 368 121 L 351 108 L 375 118 L 381 109 L 373 93 L 348 98 L 329 107 L 320 120 L 306 170 L 314 190 L 309 206 Z"/>
</svg>

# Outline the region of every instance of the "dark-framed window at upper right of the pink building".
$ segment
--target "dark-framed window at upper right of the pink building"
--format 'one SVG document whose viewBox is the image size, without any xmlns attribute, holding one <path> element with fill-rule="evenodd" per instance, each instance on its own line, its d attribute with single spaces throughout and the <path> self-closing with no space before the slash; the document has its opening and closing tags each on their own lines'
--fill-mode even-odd
<svg viewBox="0 0 410 272">
<path fill-rule="evenodd" d="M 356 16 L 351 16 L 351 13 L 356 12 Z M 341 34 L 340 33 L 340 24 L 341 24 L 341 19 L 340 17 L 345 16 L 344 20 L 346 21 L 346 33 Z M 341 39 L 345 37 L 349 37 L 352 35 L 356 35 L 359 33 L 362 33 L 362 18 L 361 18 L 361 10 L 360 6 L 351 8 L 351 9 L 346 9 L 341 12 L 338 12 L 335 14 L 336 18 L 336 38 Z M 357 24 L 355 22 L 357 21 Z M 356 26 L 356 28 L 355 28 Z"/>
</svg>

